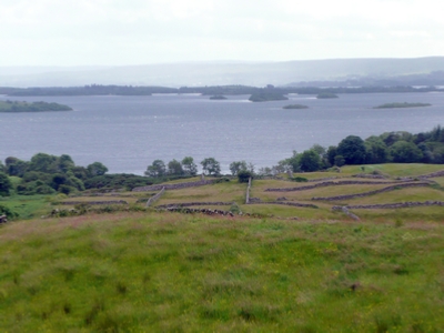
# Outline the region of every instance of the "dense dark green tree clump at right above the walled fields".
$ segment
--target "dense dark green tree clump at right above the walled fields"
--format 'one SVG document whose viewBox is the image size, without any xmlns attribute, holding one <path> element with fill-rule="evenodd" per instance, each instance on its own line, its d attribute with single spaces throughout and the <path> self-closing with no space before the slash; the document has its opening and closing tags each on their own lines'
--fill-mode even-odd
<svg viewBox="0 0 444 333">
<path fill-rule="evenodd" d="M 327 149 L 314 144 L 302 153 L 282 160 L 278 165 L 263 168 L 261 174 L 285 171 L 311 172 L 331 167 L 381 163 L 444 163 L 444 129 L 412 134 L 405 131 L 385 132 L 363 140 L 349 135 Z"/>
</svg>

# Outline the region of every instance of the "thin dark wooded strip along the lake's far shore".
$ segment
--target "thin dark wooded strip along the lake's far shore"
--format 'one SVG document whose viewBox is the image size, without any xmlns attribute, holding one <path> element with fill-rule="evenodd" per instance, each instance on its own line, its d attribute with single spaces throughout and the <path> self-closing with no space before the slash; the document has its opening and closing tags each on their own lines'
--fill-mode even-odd
<svg viewBox="0 0 444 333">
<path fill-rule="evenodd" d="M 91 84 L 84 87 L 50 87 L 50 88 L 8 88 L 0 87 L 0 94 L 11 97 L 48 97 L 48 95 L 151 95 L 153 93 L 202 93 L 204 95 L 263 95 L 273 92 L 275 94 L 321 94 L 321 93 L 376 93 L 376 92 L 428 92 L 442 91 L 435 87 L 413 88 L 411 85 L 370 85 L 360 88 L 347 87 L 273 87 L 264 88 L 250 85 L 213 85 L 213 87 L 133 87 L 133 85 L 101 85 Z"/>
</svg>

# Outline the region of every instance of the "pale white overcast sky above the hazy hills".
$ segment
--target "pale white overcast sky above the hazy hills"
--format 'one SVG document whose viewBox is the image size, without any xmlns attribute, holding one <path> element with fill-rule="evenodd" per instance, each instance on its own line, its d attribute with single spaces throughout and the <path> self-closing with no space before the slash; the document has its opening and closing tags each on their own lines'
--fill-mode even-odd
<svg viewBox="0 0 444 333">
<path fill-rule="evenodd" d="M 0 0 L 1 65 L 444 56 L 442 0 Z"/>
</svg>

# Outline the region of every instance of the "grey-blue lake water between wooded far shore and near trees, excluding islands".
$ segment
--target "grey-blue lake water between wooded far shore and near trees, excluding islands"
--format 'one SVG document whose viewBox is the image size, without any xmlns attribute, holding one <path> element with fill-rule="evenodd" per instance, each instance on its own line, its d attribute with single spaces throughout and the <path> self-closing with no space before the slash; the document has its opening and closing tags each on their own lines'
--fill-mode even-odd
<svg viewBox="0 0 444 333">
<path fill-rule="evenodd" d="M 346 135 L 417 133 L 444 125 L 443 93 L 341 94 L 334 100 L 293 95 L 251 103 L 246 95 L 210 101 L 201 95 L 7 98 L 59 102 L 73 112 L 0 113 L 0 159 L 29 160 L 37 152 L 71 155 L 79 165 L 104 163 L 110 172 L 142 174 L 155 159 L 214 157 L 258 168 L 309 149 L 336 145 Z M 428 102 L 428 108 L 373 110 L 387 102 Z M 283 110 L 289 103 L 306 110 Z"/>
</svg>

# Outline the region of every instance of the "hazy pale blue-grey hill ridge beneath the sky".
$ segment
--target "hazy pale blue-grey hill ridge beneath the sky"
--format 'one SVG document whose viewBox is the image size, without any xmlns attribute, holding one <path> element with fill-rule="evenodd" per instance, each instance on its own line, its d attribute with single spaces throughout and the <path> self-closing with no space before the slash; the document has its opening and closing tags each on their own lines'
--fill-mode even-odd
<svg viewBox="0 0 444 333">
<path fill-rule="evenodd" d="M 0 67 L 0 87 L 72 87 L 92 83 L 264 87 L 284 85 L 290 82 L 299 84 L 301 81 L 350 81 L 362 78 L 391 80 L 394 77 L 411 78 L 412 84 L 421 84 L 415 83 L 416 79 L 440 71 L 444 71 L 444 57 L 286 62 L 184 62 L 122 67 Z"/>
</svg>

